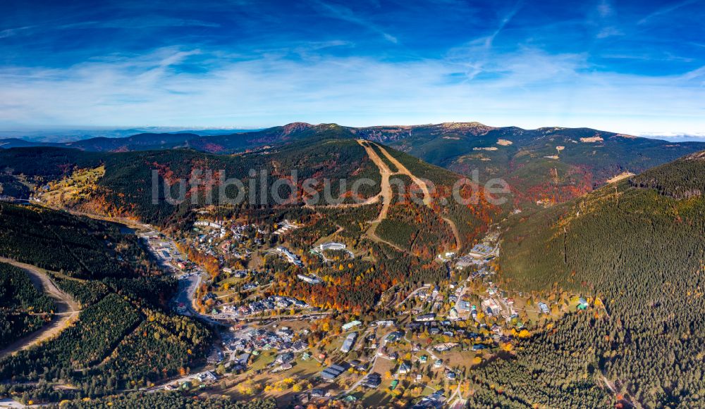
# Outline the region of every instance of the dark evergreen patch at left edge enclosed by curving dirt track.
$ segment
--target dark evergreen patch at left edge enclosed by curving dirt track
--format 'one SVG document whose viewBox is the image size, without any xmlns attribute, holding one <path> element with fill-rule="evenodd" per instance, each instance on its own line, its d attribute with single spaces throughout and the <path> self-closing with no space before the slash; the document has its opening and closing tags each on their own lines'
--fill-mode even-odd
<svg viewBox="0 0 705 409">
<path fill-rule="evenodd" d="M 0 263 L 0 348 L 41 328 L 53 310 L 54 301 L 37 291 L 26 272 Z"/>
</svg>

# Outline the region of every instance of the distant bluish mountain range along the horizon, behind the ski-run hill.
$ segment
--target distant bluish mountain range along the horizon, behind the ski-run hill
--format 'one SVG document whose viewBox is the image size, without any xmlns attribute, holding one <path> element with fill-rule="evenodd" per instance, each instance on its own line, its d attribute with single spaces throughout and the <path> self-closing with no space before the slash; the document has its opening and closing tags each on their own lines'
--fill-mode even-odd
<svg viewBox="0 0 705 409">
<path fill-rule="evenodd" d="M 369 139 L 462 175 L 471 176 L 477 171 L 482 182 L 501 177 L 513 189 L 516 206 L 560 203 L 625 172 L 643 172 L 705 149 L 704 142 L 663 141 L 590 128 L 524 130 L 479 122 L 362 128 L 294 122 L 217 135 L 141 133 L 66 143 L 0 139 L 0 148 L 55 146 L 96 152 L 192 149 L 231 154 L 312 137 Z"/>
</svg>

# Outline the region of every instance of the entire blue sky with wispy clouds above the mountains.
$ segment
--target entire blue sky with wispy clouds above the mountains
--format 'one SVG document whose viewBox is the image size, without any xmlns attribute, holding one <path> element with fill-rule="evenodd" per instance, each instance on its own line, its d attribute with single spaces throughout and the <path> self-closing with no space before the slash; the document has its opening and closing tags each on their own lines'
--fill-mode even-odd
<svg viewBox="0 0 705 409">
<path fill-rule="evenodd" d="M 95 3 L 1 2 L 0 129 L 477 120 L 705 137 L 704 1 Z"/>
</svg>

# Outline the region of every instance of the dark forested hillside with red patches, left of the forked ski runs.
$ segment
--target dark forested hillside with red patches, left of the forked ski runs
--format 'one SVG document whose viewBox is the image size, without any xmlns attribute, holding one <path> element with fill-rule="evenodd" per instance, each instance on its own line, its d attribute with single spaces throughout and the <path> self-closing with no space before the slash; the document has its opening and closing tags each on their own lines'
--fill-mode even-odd
<svg viewBox="0 0 705 409">
<path fill-rule="evenodd" d="M 105 175 L 93 187 L 90 200 L 78 203 L 78 208 L 109 215 L 124 215 L 142 221 L 166 225 L 182 220 L 193 207 L 205 203 L 218 204 L 238 197 L 232 186 L 219 186 L 223 181 L 237 179 L 243 182 L 242 201 L 253 206 L 274 206 L 274 194 L 269 189 L 262 195 L 262 185 L 269 188 L 278 179 L 292 180 L 296 191 L 287 186 L 278 189 L 279 196 L 289 204 L 301 203 L 306 193 L 302 182 L 316 178 L 310 187 L 323 198 L 325 180 L 333 199 L 348 193 L 356 180 L 367 178 L 376 186 L 362 185 L 362 198 L 379 192 L 379 170 L 369 161 L 362 146 L 351 139 L 323 139 L 319 134 L 298 144 L 282 146 L 260 153 L 241 156 L 216 156 L 188 150 L 146 151 L 129 153 L 82 153 L 73 149 L 30 148 L 0 151 L 0 163 L 12 175 L 27 175 L 38 183 L 58 180 L 77 168 L 105 166 Z M 152 197 L 152 171 L 158 173 L 157 203 Z M 250 172 L 254 174 L 251 175 Z M 264 174 L 264 176 L 263 176 Z M 183 203 L 166 200 L 179 199 L 176 182 L 189 182 L 199 177 L 194 189 L 186 186 Z M 221 180 L 222 177 L 222 180 Z M 264 177 L 264 179 L 263 179 Z M 341 179 L 346 184 L 341 184 Z M 209 183 L 212 182 L 212 189 Z M 253 183 L 253 185 L 250 184 Z M 174 185 L 168 190 L 167 185 Z M 250 195 L 250 188 L 255 191 Z M 221 196 L 221 193 L 223 196 Z M 298 196 L 298 200 L 291 201 Z M 193 199 L 193 198 L 196 199 Z M 321 199 L 322 204 L 322 199 Z"/>
</svg>

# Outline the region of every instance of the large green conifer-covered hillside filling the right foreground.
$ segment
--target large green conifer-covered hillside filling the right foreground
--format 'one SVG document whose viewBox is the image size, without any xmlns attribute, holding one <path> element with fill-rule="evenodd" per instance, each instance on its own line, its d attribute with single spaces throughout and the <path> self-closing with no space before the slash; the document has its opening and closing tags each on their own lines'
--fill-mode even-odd
<svg viewBox="0 0 705 409">
<path fill-rule="evenodd" d="M 503 385 L 501 398 L 514 403 L 568 399 L 576 388 L 609 382 L 618 398 L 649 408 L 701 407 L 705 200 L 632 186 L 646 180 L 659 191 L 682 191 L 692 175 L 705 175 L 704 161 L 675 161 L 634 182 L 510 220 L 502 282 L 549 294 L 568 289 L 605 311 L 560 322 L 515 360 L 486 367 L 479 382 Z"/>
</svg>

